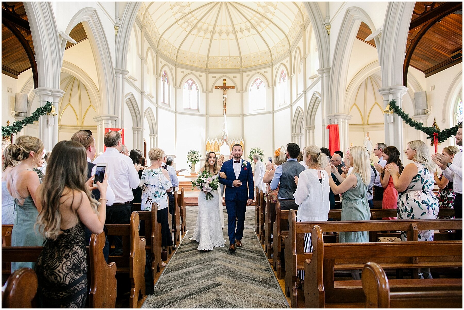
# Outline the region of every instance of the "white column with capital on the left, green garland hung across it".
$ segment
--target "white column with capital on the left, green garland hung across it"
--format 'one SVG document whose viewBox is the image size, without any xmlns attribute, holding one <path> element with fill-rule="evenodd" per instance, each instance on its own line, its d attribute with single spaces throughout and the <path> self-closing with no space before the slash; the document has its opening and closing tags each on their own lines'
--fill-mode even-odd
<svg viewBox="0 0 464 310">
<path fill-rule="evenodd" d="M 55 111 L 58 113 L 58 101 L 63 97 L 64 91 L 61 89 L 52 89 L 49 87 L 38 87 L 33 90 L 39 98 L 39 105 L 45 106 L 47 101 L 52 102 Z M 40 116 L 39 119 L 39 138 L 44 143 L 45 150 L 51 151 L 53 146 L 58 143 L 58 115 Z"/>
</svg>

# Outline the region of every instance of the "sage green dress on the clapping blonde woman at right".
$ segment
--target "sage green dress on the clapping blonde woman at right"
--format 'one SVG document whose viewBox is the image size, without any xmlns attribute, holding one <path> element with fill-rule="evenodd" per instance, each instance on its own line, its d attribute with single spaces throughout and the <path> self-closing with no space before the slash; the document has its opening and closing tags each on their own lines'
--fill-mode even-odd
<svg viewBox="0 0 464 310">
<path fill-rule="evenodd" d="M 354 173 L 354 175 L 358 179 L 358 184 L 342 194 L 342 217 L 340 220 L 368 221 L 371 218 L 366 196 L 368 185 L 362 183 L 358 173 Z M 369 242 L 369 233 L 367 231 L 341 232 L 339 242 Z"/>
</svg>

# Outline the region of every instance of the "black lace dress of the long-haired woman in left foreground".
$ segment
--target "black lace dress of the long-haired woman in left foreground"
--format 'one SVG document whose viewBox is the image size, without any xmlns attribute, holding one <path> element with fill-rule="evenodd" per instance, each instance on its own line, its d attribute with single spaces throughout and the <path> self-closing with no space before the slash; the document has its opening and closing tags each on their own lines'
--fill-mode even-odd
<svg viewBox="0 0 464 310">
<path fill-rule="evenodd" d="M 42 308 L 84 308 L 87 299 L 87 252 L 84 225 L 47 239 L 35 268 Z"/>
</svg>

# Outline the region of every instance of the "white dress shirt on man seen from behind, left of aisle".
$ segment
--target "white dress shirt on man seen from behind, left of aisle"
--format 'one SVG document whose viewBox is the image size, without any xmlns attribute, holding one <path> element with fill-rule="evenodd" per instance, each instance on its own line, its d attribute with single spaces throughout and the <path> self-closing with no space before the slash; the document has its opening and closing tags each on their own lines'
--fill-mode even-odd
<svg viewBox="0 0 464 310">
<path fill-rule="evenodd" d="M 114 147 L 107 147 L 106 151 L 98 156 L 94 164 L 106 164 L 108 181 L 114 187 L 115 199 L 113 203 L 132 201 L 132 189 L 139 186 L 139 174 L 135 170 L 132 159 L 121 154 Z M 92 171 L 93 173 L 93 171 Z"/>
</svg>

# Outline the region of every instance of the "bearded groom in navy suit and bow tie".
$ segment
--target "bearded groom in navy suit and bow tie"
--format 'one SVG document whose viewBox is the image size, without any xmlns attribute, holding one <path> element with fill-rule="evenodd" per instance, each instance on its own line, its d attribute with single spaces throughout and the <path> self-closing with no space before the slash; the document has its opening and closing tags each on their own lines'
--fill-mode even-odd
<svg viewBox="0 0 464 310">
<path fill-rule="evenodd" d="M 227 178 L 219 176 L 219 183 L 226 185 L 226 209 L 229 217 L 227 233 L 231 253 L 235 252 L 235 245 L 242 247 L 246 206 L 253 203 L 254 197 L 253 171 L 251 171 L 251 164 L 241 159 L 242 153 L 242 146 L 234 144 L 232 159 L 224 162 L 221 168 L 221 172 L 225 172 Z M 235 230 L 235 217 L 237 217 L 237 231 Z"/>
</svg>

